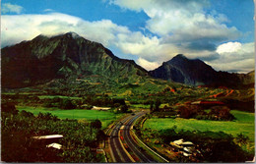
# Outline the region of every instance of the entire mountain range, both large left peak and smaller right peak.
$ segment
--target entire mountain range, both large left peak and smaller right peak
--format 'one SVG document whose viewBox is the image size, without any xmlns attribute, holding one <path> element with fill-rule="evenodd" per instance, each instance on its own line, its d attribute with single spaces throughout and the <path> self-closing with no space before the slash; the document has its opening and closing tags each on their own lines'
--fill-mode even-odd
<svg viewBox="0 0 256 164">
<path fill-rule="evenodd" d="M 5 47 L 1 53 L 2 88 L 38 85 L 131 93 L 161 91 L 182 83 L 230 87 L 244 84 L 251 87 L 254 83 L 254 72 L 248 75 L 217 72 L 203 61 L 181 54 L 148 72 L 133 60 L 120 59 L 102 44 L 75 32 L 51 37 L 38 35 Z"/>
</svg>

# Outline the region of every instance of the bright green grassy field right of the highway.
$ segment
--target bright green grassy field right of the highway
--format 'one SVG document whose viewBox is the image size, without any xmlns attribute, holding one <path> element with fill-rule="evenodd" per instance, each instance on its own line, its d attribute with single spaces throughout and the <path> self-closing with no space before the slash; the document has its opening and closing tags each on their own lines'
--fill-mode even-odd
<svg viewBox="0 0 256 164">
<path fill-rule="evenodd" d="M 213 131 L 224 132 L 226 134 L 233 135 L 243 134 L 254 141 L 255 125 L 254 125 L 254 113 L 247 113 L 242 111 L 233 110 L 231 113 L 236 120 L 234 121 L 209 121 L 209 120 L 195 120 L 195 119 L 160 119 L 152 118 L 148 119 L 144 128 L 151 128 L 153 130 L 169 129 L 173 126 L 177 127 L 177 130 L 189 130 L 189 131 Z"/>
</svg>

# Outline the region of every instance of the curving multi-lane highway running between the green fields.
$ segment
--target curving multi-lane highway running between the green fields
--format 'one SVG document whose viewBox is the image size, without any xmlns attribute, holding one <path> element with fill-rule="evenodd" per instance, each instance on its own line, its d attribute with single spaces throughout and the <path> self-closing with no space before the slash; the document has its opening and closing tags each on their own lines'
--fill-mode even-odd
<svg viewBox="0 0 256 164">
<path fill-rule="evenodd" d="M 131 135 L 130 129 L 133 123 L 143 115 L 145 112 L 130 115 L 113 126 L 108 140 L 113 162 L 158 162 L 138 145 L 138 141 Z M 129 148 L 127 146 L 125 148 L 123 143 L 126 143 Z"/>
</svg>

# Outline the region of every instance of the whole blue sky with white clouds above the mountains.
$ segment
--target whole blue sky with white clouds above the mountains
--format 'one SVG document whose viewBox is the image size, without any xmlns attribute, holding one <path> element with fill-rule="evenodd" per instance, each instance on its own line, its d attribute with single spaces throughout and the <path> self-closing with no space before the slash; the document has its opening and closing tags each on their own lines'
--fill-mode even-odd
<svg viewBox="0 0 256 164">
<path fill-rule="evenodd" d="M 254 70 L 253 0 L 2 0 L 1 47 L 74 31 L 154 70 L 177 54 Z"/>
</svg>

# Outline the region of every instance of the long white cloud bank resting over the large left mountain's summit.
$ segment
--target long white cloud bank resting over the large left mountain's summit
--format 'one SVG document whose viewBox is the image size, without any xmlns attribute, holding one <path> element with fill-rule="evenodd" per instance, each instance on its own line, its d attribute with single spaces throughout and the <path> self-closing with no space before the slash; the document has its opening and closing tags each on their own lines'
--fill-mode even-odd
<svg viewBox="0 0 256 164">
<path fill-rule="evenodd" d="M 130 32 L 127 27 L 117 26 L 109 20 L 88 22 L 60 13 L 2 16 L 1 31 L 3 46 L 30 40 L 38 34 L 55 35 L 68 31 L 108 46 L 118 33 Z"/>
</svg>

